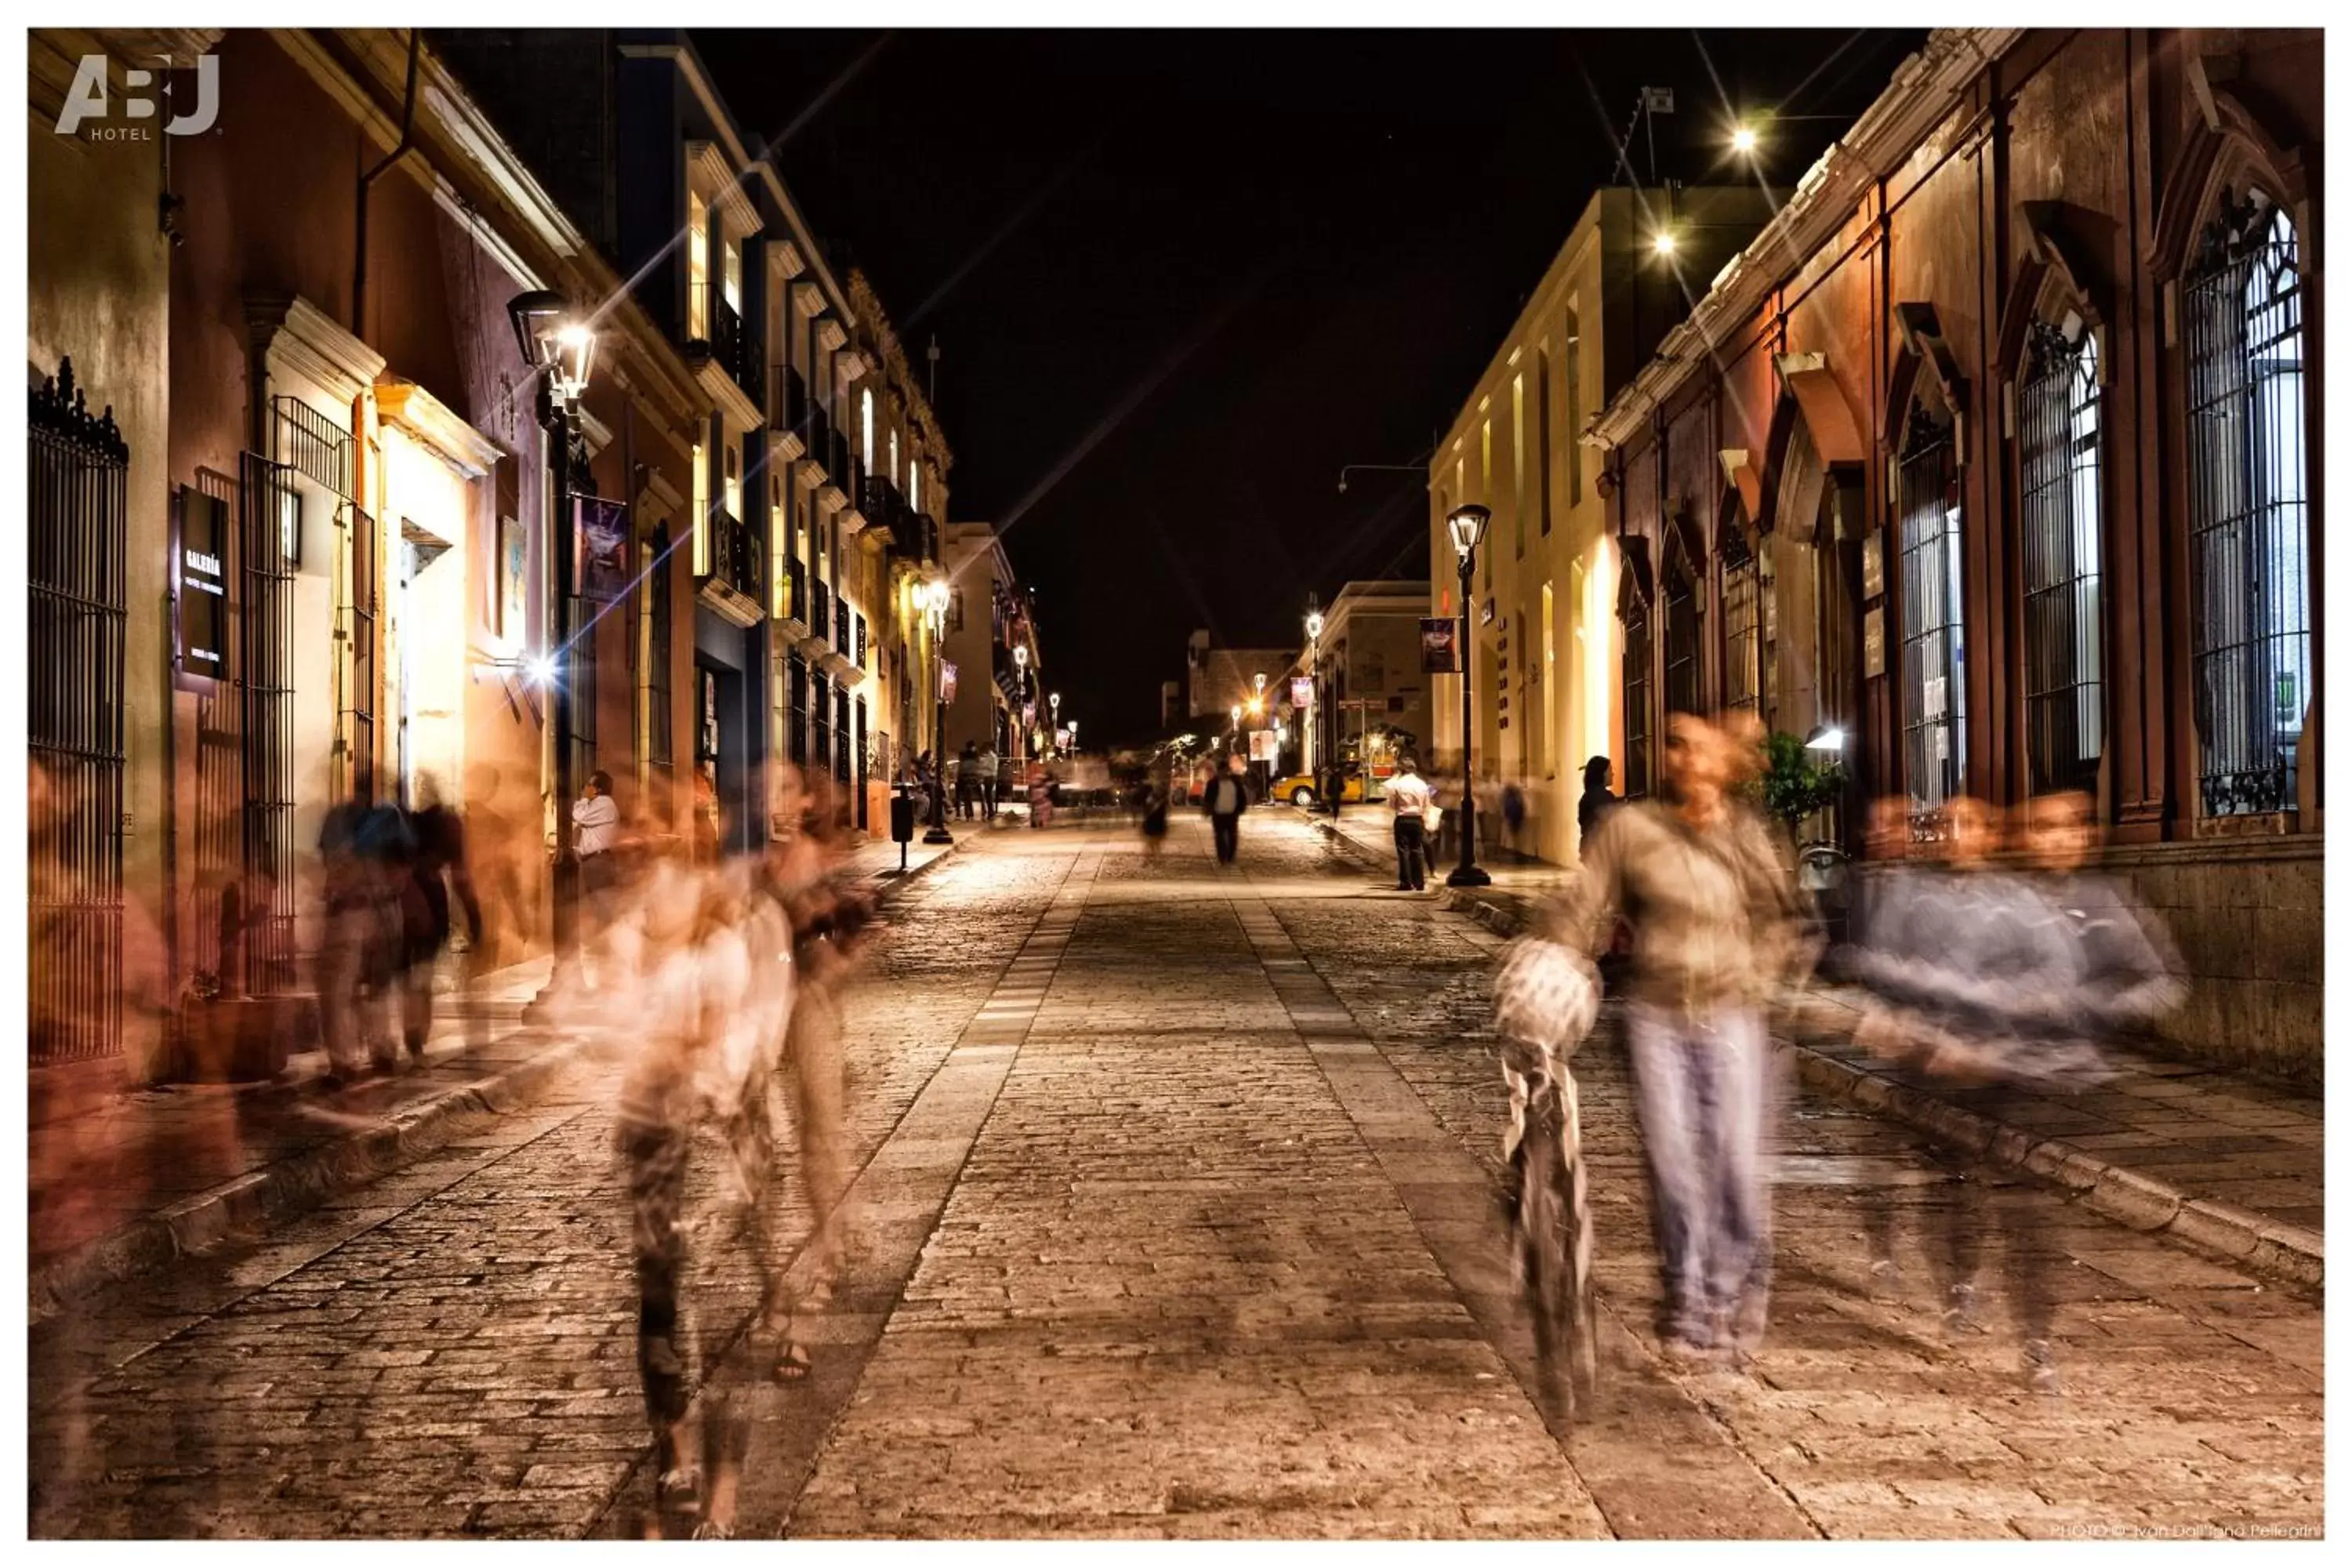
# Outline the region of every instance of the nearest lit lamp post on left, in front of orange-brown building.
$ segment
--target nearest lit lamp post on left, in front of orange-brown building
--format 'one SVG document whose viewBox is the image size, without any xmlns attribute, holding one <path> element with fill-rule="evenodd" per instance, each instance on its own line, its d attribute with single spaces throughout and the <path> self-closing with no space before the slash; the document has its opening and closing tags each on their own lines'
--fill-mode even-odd
<svg viewBox="0 0 2352 1568">
<path fill-rule="evenodd" d="M 555 907 L 553 907 L 553 966 L 548 985 L 524 1009 L 524 1023 L 543 1023 L 550 1004 L 564 990 L 579 985 L 579 856 L 572 849 L 572 797 L 579 795 L 572 757 L 572 698 L 579 658 L 574 654 L 574 522 L 572 522 L 572 442 L 579 433 L 579 402 L 588 390 L 588 371 L 595 364 L 595 331 L 572 310 L 572 301 L 550 289 L 517 294 L 506 306 L 515 324 L 515 346 L 524 364 L 539 371 L 536 416 L 546 433 L 548 484 L 555 501 L 555 524 L 548 536 L 548 567 L 553 574 L 555 602 L 548 607 L 548 639 L 553 654 L 536 661 L 539 677 L 553 686 L 550 719 L 555 729 Z"/>
</svg>

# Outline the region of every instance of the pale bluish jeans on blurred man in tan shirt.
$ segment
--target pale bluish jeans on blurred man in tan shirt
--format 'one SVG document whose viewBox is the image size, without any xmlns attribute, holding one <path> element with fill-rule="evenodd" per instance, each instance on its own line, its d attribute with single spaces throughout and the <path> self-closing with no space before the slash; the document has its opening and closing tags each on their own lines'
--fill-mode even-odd
<svg viewBox="0 0 2352 1568">
<path fill-rule="evenodd" d="M 1766 1274 L 1769 1044 L 1748 1009 L 1684 1018 L 1632 1004 L 1625 1018 L 1668 1333 L 1712 1342 Z"/>
</svg>

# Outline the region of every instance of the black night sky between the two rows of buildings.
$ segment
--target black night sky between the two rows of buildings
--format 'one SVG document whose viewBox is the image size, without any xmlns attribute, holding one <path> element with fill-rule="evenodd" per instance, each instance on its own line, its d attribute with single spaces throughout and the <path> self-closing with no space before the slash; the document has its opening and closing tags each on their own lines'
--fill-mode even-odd
<svg viewBox="0 0 2352 1568">
<path fill-rule="evenodd" d="M 1421 482 L 1338 470 L 1425 461 L 1642 85 L 1661 179 L 1778 108 L 1785 195 L 1924 35 L 694 38 L 917 367 L 938 336 L 953 520 L 1007 529 L 1063 715 L 1122 743 L 1195 625 L 1291 646 L 1310 590 L 1425 569 Z"/>
</svg>

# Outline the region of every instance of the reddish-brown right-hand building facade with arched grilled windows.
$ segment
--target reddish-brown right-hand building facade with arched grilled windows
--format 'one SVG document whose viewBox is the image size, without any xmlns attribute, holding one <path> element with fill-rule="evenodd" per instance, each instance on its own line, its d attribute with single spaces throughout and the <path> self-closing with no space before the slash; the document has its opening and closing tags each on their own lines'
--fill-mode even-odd
<svg viewBox="0 0 2352 1568">
<path fill-rule="evenodd" d="M 1597 425 L 1628 780 L 1743 708 L 1849 842 L 2089 790 L 2173 1041 L 2317 1081 L 2319 143 L 2314 33 L 1931 35 Z"/>
</svg>

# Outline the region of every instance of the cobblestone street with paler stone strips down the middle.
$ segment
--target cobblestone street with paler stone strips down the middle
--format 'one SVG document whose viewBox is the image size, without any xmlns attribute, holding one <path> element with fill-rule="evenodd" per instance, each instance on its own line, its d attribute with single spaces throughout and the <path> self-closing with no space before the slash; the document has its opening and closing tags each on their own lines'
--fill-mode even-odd
<svg viewBox="0 0 2352 1568">
<path fill-rule="evenodd" d="M 1496 1208 L 1501 938 L 1289 809 L 1237 867 L 1190 813 L 1157 853 L 967 830 L 889 922 L 849 1001 L 854 1244 L 814 1375 L 746 1396 L 739 1535 L 2321 1528 L 2317 1293 L 2027 1182 L 2067 1387 L 2037 1396 L 1997 1284 L 1945 1342 L 1917 1244 L 1964 1180 L 2027 1178 L 1795 1088 L 1771 1335 L 1750 1371 L 1663 1363 L 1613 1020 L 1578 1058 L 1604 1408 L 1541 1408 Z M 619 1048 L 40 1326 L 33 1533 L 642 1535 Z M 724 1366 L 753 1272 L 703 1260 L 691 1300 Z"/>
</svg>

